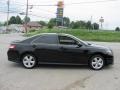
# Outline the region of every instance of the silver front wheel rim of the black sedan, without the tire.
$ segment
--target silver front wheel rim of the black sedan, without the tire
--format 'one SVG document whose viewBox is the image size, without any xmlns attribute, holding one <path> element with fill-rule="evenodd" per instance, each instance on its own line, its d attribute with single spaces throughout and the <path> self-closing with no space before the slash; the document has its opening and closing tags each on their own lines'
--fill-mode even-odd
<svg viewBox="0 0 120 90">
<path fill-rule="evenodd" d="M 92 59 L 92 67 L 94 69 L 100 69 L 103 67 L 103 59 L 101 57 L 95 57 Z"/>
</svg>

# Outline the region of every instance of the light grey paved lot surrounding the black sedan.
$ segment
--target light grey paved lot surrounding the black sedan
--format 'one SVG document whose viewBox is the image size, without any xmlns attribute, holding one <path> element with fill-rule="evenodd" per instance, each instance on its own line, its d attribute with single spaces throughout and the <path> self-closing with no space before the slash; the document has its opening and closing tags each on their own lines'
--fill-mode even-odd
<svg viewBox="0 0 120 90">
<path fill-rule="evenodd" d="M 95 42 L 109 46 L 115 54 L 115 64 L 101 71 L 50 65 L 30 70 L 7 60 L 9 43 L 22 38 L 19 34 L 0 35 L 0 90 L 120 90 L 120 43 Z"/>
</svg>

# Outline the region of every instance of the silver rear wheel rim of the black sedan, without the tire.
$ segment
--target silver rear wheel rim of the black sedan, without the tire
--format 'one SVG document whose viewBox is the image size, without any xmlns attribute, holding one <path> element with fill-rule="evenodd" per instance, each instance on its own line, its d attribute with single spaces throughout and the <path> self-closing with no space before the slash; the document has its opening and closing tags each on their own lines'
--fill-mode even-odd
<svg viewBox="0 0 120 90">
<path fill-rule="evenodd" d="M 35 65 L 35 58 L 31 55 L 26 55 L 24 58 L 23 58 L 23 64 L 25 67 L 27 68 L 32 68 L 34 65 Z"/>
</svg>

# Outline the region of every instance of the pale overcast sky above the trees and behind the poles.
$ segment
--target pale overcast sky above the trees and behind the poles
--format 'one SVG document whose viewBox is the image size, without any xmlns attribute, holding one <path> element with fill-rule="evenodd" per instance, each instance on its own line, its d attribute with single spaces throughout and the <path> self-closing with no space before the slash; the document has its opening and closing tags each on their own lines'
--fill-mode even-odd
<svg viewBox="0 0 120 90">
<path fill-rule="evenodd" d="M 10 0 L 10 16 L 19 15 L 19 12 L 25 12 L 25 4 L 27 0 Z M 54 5 L 59 0 L 29 0 L 30 5 Z M 120 0 L 63 0 L 64 16 L 69 17 L 71 20 L 91 20 L 92 22 L 99 23 L 102 16 L 104 18 L 103 27 L 105 29 L 114 29 L 120 26 Z M 97 3 L 90 3 L 96 2 Z M 99 2 L 106 1 L 106 2 Z M 0 21 L 6 20 L 7 0 L 0 0 Z M 81 3 L 88 2 L 88 3 Z M 71 4 L 81 3 L 81 4 Z M 56 17 L 56 6 L 33 6 L 29 10 L 30 18 L 32 21 L 46 20 Z M 34 16 L 33 16 L 34 15 Z M 20 15 L 21 18 L 24 15 Z"/>
</svg>

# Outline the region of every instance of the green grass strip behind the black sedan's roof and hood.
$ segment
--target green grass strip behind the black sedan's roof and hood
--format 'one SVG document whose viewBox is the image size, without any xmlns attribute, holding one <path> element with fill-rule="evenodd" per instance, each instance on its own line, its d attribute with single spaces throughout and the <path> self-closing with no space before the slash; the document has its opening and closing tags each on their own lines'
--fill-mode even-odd
<svg viewBox="0 0 120 90">
<path fill-rule="evenodd" d="M 120 42 L 120 32 L 105 30 L 88 31 L 85 29 L 42 29 L 39 31 L 29 32 L 25 34 L 25 36 L 33 36 L 40 33 L 67 33 L 87 41 Z"/>
</svg>

